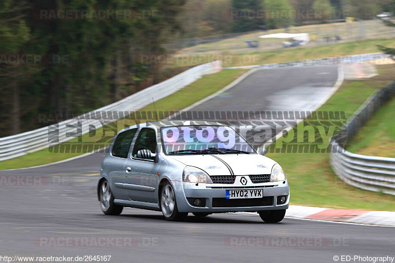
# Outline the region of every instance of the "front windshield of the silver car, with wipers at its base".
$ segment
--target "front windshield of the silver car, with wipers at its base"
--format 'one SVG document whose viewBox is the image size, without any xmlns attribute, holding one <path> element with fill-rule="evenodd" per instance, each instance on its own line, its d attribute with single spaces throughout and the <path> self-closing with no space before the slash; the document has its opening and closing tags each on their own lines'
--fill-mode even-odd
<svg viewBox="0 0 395 263">
<path fill-rule="evenodd" d="M 231 127 L 211 125 L 171 126 L 161 129 L 166 154 L 256 153 Z"/>
</svg>

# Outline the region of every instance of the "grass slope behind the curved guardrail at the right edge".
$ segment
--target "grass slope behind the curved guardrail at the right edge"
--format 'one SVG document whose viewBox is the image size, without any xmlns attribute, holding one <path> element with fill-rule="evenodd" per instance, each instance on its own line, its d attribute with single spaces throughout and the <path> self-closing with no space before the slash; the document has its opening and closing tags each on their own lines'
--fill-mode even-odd
<svg viewBox="0 0 395 263">
<path fill-rule="evenodd" d="M 347 150 L 395 158 L 395 99 L 382 106 L 348 143 Z"/>
</svg>

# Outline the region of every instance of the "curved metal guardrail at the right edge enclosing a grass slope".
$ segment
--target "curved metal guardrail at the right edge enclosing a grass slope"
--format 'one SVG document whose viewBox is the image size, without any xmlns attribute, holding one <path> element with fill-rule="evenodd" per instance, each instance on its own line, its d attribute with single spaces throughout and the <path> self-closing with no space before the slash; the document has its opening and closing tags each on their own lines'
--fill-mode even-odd
<svg viewBox="0 0 395 263">
<path fill-rule="evenodd" d="M 374 93 L 331 140 L 330 165 L 335 174 L 347 184 L 395 195 L 395 158 L 355 154 L 341 146 L 394 95 L 395 82 Z"/>
</svg>

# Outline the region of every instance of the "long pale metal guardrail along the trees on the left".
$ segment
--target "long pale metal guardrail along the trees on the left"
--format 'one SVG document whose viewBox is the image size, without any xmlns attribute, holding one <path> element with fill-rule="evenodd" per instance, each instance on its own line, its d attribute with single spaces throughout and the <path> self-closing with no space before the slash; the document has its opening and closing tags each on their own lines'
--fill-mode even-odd
<svg viewBox="0 0 395 263">
<path fill-rule="evenodd" d="M 153 99 L 158 101 L 193 83 L 202 75 L 213 74 L 221 71 L 221 69 L 222 61 L 220 60 L 196 66 L 163 82 L 136 92 L 118 102 L 107 105 L 90 113 L 85 113 L 77 118 L 59 122 L 56 124 L 56 131 L 53 134 L 51 133 L 51 128 L 46 126 L 40 129 L 0 138 L 0 161 L 12 159 L 30 152 L 48 148 L 49 146 L 55 145 L 56 141 L 58 141 L 58 144 L 60 144 L 74 139 L 75 137 L 71 137 L 70 133 L 76 132 L 76 119 L 79 119 L 79 121 L 83 122 L 79 134 L 88 133 L 90 131 L 89 124 L 94 125 L 96 129 L 103 126 L 102 122 L 100 122 L 100 118 L 86 118 L 83 117 L 84 115 L 91 116 L 92 114 L 94 115 L 98 112 L 119 113 L 138 111 L 139 109 L 151 104 Z M 122 114 L 116 114 L 118 116 L 114 114 L 112 115 L 114 121 L 124 117 Z M 108 121 L 107 118 L 106 121 Z M 66 134 L 68 134 L 68 136 L 66 136 Z M 56 141 L 51 140 L 51 137 L 55 135 Z"/>
</svg>

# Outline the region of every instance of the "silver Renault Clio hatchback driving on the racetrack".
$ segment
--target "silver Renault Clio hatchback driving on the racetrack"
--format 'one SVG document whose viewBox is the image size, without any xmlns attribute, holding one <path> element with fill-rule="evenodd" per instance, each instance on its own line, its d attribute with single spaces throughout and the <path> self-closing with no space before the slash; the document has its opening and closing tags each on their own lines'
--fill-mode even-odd
<svg viewBox="0 0 395 263">
<path fill-rule="evenodd" d="M 100 167 L 100 206 L 106 215 L 123 207 L 161 211 L 169 221 L 248 211 L 280 222 L 289 206 L 288 181 L 265 154 L 217 122 L 134 125 L 118 133 Z"/>
</svg>

